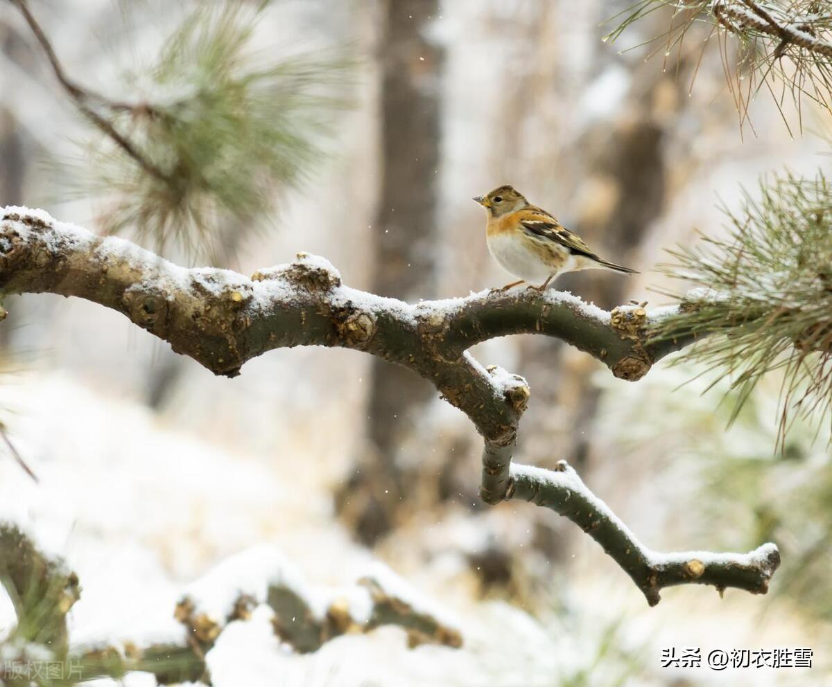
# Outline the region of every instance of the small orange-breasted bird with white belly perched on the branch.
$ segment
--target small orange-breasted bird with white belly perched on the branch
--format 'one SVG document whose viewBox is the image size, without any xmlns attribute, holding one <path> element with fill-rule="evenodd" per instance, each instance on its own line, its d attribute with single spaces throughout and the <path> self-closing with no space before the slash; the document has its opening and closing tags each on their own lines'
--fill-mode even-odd
<svg viewBox="0 0 832 687">
<path fill-rule="evenodd" d="M 488 252 L 506 272 L 518 277 L 518 281 L 498 291 L 530 282 L 532 288 L 542 292 L 558 274 L 592 267 L 638 274 L 630 267 L 598 257 L 581 237 L 564 228 L 546 210 L 529 203 L 513 186 L 498 186 L 474 200 L 488 214 Z"/>
</svg>

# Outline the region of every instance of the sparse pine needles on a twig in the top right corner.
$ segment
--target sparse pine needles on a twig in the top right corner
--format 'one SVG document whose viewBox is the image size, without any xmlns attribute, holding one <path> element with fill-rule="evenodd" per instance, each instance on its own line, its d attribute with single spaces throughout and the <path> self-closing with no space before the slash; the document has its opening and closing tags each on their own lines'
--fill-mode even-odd
<svg viewBox="0 0 832 687">
<path fill-rule="evenodd" d="M 704 27 L 686 47 L 701 44 L 695 48 L 700 53 L 698 63 L 707 47 L 716 42 L 742 120 L 750 102 L 763 90 L 774 97 L 781 113 L 787 98 L 794 101 L 801 119 L 801 96 L 832 109 L 832 7 L 828 2 L 638 0 L 612 17 L 617 26 L 604 40 L 617 40 L 628 27 L 657 11 L 670 15 L 666 32 L 642 45 L 656 45 L 655 52 L 663 50 L 667 59 L 673 51 L 681 53 L 691 27 Z M 729 37 L 736 39 L 735 44 L 728 42 Z M 785 114 L 783 117 L 786 121 Z"/>
</svg>

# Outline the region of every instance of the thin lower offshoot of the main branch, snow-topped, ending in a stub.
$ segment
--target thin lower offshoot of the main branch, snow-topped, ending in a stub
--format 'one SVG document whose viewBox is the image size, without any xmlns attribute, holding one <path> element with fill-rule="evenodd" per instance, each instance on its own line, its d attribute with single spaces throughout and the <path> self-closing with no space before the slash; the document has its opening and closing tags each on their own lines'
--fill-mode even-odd
<svg viewBox="0 0 832 687">
<path fill-rule="evenodd" d="M 765 594 L 780 566 L 780 552 L 772 543 L 750 553 L 651 551 L 587 488 L 566 461 L 560 461 L 557 470 L 514 464 L 511 475 L 508 498 L 552 508 L 572 520 L 624 569 L 651 606 L 659 602 L 659 591 L 664 587 L 689 583 L 713 585 L 720 593 L 733 586 Z"/>
</svg>

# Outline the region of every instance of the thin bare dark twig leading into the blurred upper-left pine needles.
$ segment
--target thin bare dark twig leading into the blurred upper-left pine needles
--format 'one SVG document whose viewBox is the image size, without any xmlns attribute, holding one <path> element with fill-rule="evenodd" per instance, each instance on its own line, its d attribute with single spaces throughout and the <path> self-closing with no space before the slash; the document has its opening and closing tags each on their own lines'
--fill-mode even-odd
<svg viewBox="0 0 832 687">
<path fill-rule="evenodd" d="M 159 179 L 164 184 L 171 184 L 171 179 L 167 174 L 162 172 L 161 169 L 156 167 L 155 164 L 152 164 L 144 155 L 141 155 L 141 153 L 136 150 L 136 146 L 133 145 L 131 141 L 126 138 L 126 136 L 121 135 L 121 133 L 116 130 L 116 127 L 112 125 L 110 120 L 107 120 L 106 117 L 103 117 L 91 106 L 89 106 L 87 101 L 99 101 L 99 103 L 114 111 L 132 112 L 136 110 L 136 107 L 130 106 L 123 102 L 111 101 L 94 91 L 82 88 L 82 86 L 79 86 L 75 81 L 72 81 L 72 79 L 70 79 L 67 76 L 67 73 L 63 70 L 61 62 L 57 59 L 55 50 L 52 47 L 52 43 L 49 41 L 46 33 L 43 32 L 43 29 L 37 22 L 37 19 L 35 19 L 26 0 L 11 0 L 11 2 L 17 6 L 23 15 L 23 18 L 29 25 L 29 28 L 32 29 L 32 33 L 37 38 L 37 42 L 40 43 L 43 52 L 47 55 L 47 59 L 49 64 L 52 66 L 52 71 L 54 72 L 55 77 L 61 86 L 63 86 L 64 90 L 67 91 L 69 96 L 72 97 L 72 100 L 75 102 L 78 110 L 81 111 L 88 120 L 92 121 L 94 125 L 102 130 L 104 134 L 109 136 L 116 143 L 116 145 L 121 148 L 121 150 L 124 150 L 127 155 L 130 155 L 132 159 L 136 160 L 136 163 L 141 166 L 141 169 L 144 169 L 148 174 L 156 177 L 156 179 Z M 141 108 L 146 111 L 148 106 L 144 105 L 141 106 Z"/>
</svg>

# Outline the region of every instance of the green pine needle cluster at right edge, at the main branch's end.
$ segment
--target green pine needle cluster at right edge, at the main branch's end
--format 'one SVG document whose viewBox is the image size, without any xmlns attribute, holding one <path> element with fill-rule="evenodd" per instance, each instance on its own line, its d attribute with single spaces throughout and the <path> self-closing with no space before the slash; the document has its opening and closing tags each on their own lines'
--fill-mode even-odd
<svg viewBox="0 0 832 687">
<path fill-rule="evenodd" d="M 739 411 L 760 378 L 781 370 L 780 439 L 796 415 L 832 419 L 832 188 L 790 174 L 744 194 L 726 238 L 671 251 L 661 266 L 699 288 L 656 339 L 701 337 L 680 360 L 730 375 Z"/>
</svg>

